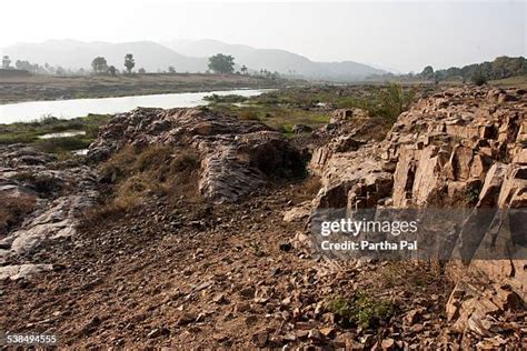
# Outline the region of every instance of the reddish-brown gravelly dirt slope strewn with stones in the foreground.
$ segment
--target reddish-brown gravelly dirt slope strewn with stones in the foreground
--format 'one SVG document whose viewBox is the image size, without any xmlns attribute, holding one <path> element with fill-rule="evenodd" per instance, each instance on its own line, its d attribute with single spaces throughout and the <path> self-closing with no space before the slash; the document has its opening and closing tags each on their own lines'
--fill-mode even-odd
<svg viewBox="0 0 527 351">
<path fill-rule="evenodd" d="M 51 241 L 37 259 L 52 263 L 52 272 L 2 282 L 1 329 L 57 333 L 60 345 L 88 348 L 455 341 L 445 329 L 451 287 L 440 267 L 327 262 L 290 245 L 305 223 L 286 223 L 282 212 L 312 189 L 310 181 L 281 184 L 231 205 L 161 198 L 83 229 L 76 243 Z M 394 301 L 392 321 L 376 328 L 335 321 L 328 301 L 354 291 Z M 405 322 L 408 313 L 418 319 Z"/>
</svg>

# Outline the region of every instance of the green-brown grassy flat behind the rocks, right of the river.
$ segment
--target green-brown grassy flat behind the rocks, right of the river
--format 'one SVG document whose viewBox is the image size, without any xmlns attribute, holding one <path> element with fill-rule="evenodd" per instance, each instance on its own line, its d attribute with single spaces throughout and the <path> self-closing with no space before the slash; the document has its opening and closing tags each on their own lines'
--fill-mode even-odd
<svg viewBox="0 0 527 351">
<path fill-rule="evenodd" d="M 391 127 L 397 117 L 415 101 L 416 90 L 396 83 L 361 87 L 286 88 L 245 98 L 243 106 L 228 103 L 218 97 L 211 100 L 212 110 L 235 114 L 242 120 L 261 121 L 292 138 L 295 124 L 307 124 L 314 129 L 329 122 L 335 108 L 360 108 Z M 226 103 L 227 102 L 227 103 Z M 386 129 L 386 128 L 385 128 Z"/>
</svg>

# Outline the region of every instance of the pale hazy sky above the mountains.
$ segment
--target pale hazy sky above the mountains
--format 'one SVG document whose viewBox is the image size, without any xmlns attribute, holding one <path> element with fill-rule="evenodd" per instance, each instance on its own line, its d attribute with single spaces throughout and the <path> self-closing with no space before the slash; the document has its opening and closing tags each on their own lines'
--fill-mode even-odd
<svg viewBox="0 0 527 351">
<path fill-rule="evenodd" d="M 312 60 L 401 71 L 527 56 L 524 1 L 182 2 L 16 0 L 0 7 L 0 48 L 47 39 L 217 39 Z"/>
</svg>

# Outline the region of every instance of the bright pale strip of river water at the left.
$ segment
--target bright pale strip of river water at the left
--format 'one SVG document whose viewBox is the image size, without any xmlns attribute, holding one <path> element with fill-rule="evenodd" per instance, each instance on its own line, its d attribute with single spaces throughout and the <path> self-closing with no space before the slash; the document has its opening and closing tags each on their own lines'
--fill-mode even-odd
<svg viewBox="0 0 527 351">
<path fill-rule="evenodd" d="M 138 107 L 143 108 L 193 108 L 207 104 L 206 96 L 238 94 L 253 97 L 265 92 L 266 89 L 238 89 L 208 92 L 181 92 L 152 96 L 135 96 L 101 99 L 74 99 L 53 101 L 30 101 L 0 104 L 0 123 L 29 122 L 42 117 L 57 117 L 71 119 L 89 113 L 107 114 L 127 112 Z"/>
</svg>

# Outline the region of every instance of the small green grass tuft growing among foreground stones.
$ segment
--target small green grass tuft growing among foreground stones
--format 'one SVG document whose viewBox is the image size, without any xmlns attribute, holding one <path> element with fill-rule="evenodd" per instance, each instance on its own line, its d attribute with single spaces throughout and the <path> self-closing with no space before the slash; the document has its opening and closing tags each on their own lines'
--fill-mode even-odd
<svg viewBox="0 0 527 351">
<path fill-rule="evenodd" d="M 375 300 L 365 292 L 351 297 L 337 297 L 329 301 L 328 310 L 344 325 L 377 328 L 389 323 L 397 307 L 388 300 Z"/>
</svg>

